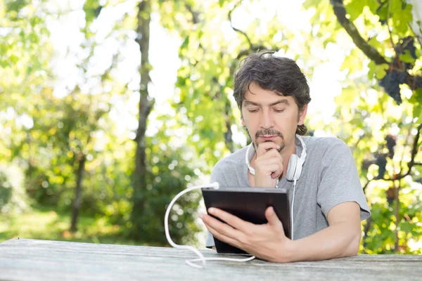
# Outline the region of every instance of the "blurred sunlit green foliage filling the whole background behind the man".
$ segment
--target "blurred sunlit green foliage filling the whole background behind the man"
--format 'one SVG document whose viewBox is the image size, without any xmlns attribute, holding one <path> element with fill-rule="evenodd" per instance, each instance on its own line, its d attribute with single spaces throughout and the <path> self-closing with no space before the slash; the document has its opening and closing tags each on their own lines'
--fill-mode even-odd
<svg viewBox="0 0 422 281">
<path fill-rule="evenodd" d="M 233 74 L 240 60 L 264 48 L 281 50 L 298 60 L 312 80 L 314 67 L 331 61 L 316 54 L 335 45 L 347 54 L 340 67 L 346 74 L 340 81 L 343 92 L 335 98 L 337 110 L 331 122 L 309 116 L 309 127 L 337 135 L 352 148 L 372 210 L 371 220 L 363 226 L 361 252 L 421 254 L 422 159 L 418 154 L 420 143 L 414 141 L 422 117 L 422 89 L 409 77 L 421 77 L 422 52 L 418 40 L 414 41 L 414 52 L 408 47 L 408 39 L 416 38 L 407 24 L 414 16 L 411 5 L 399 0 L 345 1 L 347 18 L 387 62 L 379 63 L 364 55 L 351 39 L 347 41 L 349 36 L 328 0 L 305 1 L 303 8 L 313 13 L 309 16 L 310 29 L 295 31 L 260 1 L 246 2 L 152 1 L 160 25 L 180 39 L 180 67 L 168 110 L 155 108 L 151 113 L 148 129 L 152 133 L 146 136 L 147 185 L 137 195 L 131 182 L 134 129 L 123 124 L 136 120 L 139 113 L 133 98 L 137 90 L 134 81 L 123 83 L 117 78 L 116 72 L 122 69 L 121 46 L 103 71 L 92 74 L 89 68 L 98 60 L 96 53 L 102 44 L 94 36 L 96 21 L 104 9 L 117 9 L 122 1 L 84 2 L 85 25 L 80 28 L 84 55 L 76 62 L 83 82 L 58 97 L 53 88 L 57 79 L 51 70 L 56 54 L 46 26 L 48 13 L 41 5 L 44 1 L 0 0 L 0 31 L 4 34 L 0 37 L 0 159 L 7 165 L 20 166 L 24 174 L 22 183 L 16 185 L 11 183 L 11 171 L 0 173 L 0 211 L 7 213 L 1 214 L 0 233 L 6 236 L 0 236 L 0 240 L 24 235 L 167 245 L 163 220 L 174 195 L 206 182 L 212 166 L 241 147 L 234 142 L 234 131 L 247 134 L 232 97 Z M 230 26 L 236 21 L 229 22 L 229 15 L 236 18 L 236 13 L 248 19 L 242 28 L 234 26 L 241 32 Z M 259 18 L 258 13 L 268 16 Z M 136 16 L 124 13 L 104 41 L 133 44 Z M 383 92 L 387 87 L 380 84 L 394 71 L 409 75 L 406 81 L 395 84 L 400 105 L 388 96 L 392 96 L 388 89 L 388 95 Z M 96 87 L 87 90 L 92 79 Z M 127 119 L 117 122 L 116 116 L 122 111 Z M 416 164 L 407 176 L 397 179 L 407 173 L 413 148 Z M 81 218 L 79 230 L 69 233 L 82 155 L 87 162 Z M 136 209 L 134 196 L 143 197 L 143 205 Z M 203 227 L 196 220 L 200 199 L 200 192 L 188 193 L 172 210 L 170 233 L 175 242 L 200 242 Z M 21 206 L 20 202 L 34 205 L 35 215 L 8 214 L 11 203 Z M 39 211 L 39 205 L 46 209 Z M 139 214 L 135 225 L 130 219 L 132 211 Z M 30 224 L 36 218 L 44 221 L 39 221 L 41 228 Z M 30 232 L 25 232 L 27 225 Z M 127 240 L 133 230 L 136 241 Z"/>
</svg>

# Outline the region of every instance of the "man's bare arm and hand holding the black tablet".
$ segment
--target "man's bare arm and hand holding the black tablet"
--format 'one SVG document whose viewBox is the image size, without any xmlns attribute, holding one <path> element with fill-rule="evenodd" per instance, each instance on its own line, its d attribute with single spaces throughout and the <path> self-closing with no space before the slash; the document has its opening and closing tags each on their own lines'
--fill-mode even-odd
<svg viewBox="0 0 422 281">
<path fill-rule="evenodd" d="M 269 207 L 265 212 L 268 223 L 255 225 L 226 211 L 210 208 L 210 214 L 200 214 L 207 229 L 217 239 L 247 251 L 260 259 L 278 263 L 316 261 L 354 256 L 361 237 L 359 205 L 344 202 L 328 212 L 329 227 L 300 240 L 284 235 L 283 225 Z"/>
</svg>

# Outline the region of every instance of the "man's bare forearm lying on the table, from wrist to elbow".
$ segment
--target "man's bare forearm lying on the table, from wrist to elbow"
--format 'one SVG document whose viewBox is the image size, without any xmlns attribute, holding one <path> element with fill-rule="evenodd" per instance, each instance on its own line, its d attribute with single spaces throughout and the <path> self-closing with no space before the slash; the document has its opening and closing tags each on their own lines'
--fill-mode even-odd
<svg viewBox="0 0 422 281">
<path fill-rule="evenodd" d="M 288 261 L 319 261 L 355 256 L 359 251 L 361 230 L 342 222 L 313 235 L 288 243 Z M 286 262 L 286 261 L 281 261 Z"/>
</svg>

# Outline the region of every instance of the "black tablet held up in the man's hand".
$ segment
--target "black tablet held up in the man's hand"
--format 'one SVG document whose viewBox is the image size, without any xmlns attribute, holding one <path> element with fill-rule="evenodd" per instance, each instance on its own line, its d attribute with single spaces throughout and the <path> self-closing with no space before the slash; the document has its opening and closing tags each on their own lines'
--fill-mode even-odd
<svg viewBox="0 0 422 281">
<path fill-rule="evenodd" d="M 206 209 L 215 207 L 255 224 L 267 223 L 265 210 L 272 206 L 283 223 L 284 234 L 290 238 L 290 208 L 285 188 L 226 187 L 202 188 Z M 211 214 L 209 214 L 212 216 Z M 218 219 L 218 218 L 217 218 Z M 248 254 L 242 249 L 214 237 L 217 253 Z"/>
</svg>

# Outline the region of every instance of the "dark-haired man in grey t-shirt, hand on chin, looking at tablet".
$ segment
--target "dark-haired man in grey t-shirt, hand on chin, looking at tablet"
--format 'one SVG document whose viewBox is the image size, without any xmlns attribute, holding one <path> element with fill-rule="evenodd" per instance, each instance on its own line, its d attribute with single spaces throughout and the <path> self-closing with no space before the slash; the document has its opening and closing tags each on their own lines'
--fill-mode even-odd
<svg viewBox="0 0 422 281">
<path fill-rule="evenodd" d="M 307 132 L 304 120 L 311 98 L 305 75 L 295 61 L 277 57 L 273 51 L 249 55 L 236 72 L 234 97 L 252 143 L 249 150 L 243 148 L 220 160 L 212 170 L 211 182 L 286 188 L 290 207 L 294 192 L 295 235 L 293 240 L 286 237 L 272 207 L 265 212 L 268 223 L 264 225 L 211 208 L 210 214 L 226 223 L 200 214 L 209 231 L 206 246 L 214 247 L 216 237 L 279 263 L 356 255 L 360 221 L 371 214 L 356 164 L 350 148 L 338 138 L 303 137 L 302 145 L 300 136 Z M 304 150 L 300 178 L 292 181 L 290 176 L 289 181 L 289 159 L 302 157 Z"/>
</svg>

